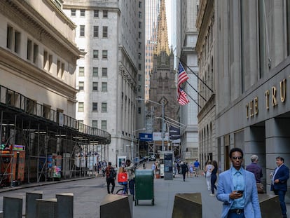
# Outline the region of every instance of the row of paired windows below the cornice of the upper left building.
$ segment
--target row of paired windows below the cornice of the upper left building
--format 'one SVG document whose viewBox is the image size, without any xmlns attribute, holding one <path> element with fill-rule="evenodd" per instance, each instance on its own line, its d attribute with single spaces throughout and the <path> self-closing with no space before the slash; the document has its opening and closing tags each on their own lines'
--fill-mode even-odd
<svg viewBox="0 0 290 218">
<path fill-rule="evenodd" d="M 20 55 L 21 48 L 21 33 L 14 29 L 12 26 L 7 26 L 7 40 L 6 40 L 6 48 L 13 50 L 15 53 Z M 27 53 L 26 58 L 28 61 L 33 62 L 34 64 L 38 64 L 39 58 L 39 45 L 34 43 L 32 39 L 27 39 Z M 57 59 L 57 77 L 62 78 L 64 75 L 64 62 Z M 43 69 L 52 73 L 53 66 L 53 54 L 49 53 L 47 50 L 43 50 Z"/>
</svg>

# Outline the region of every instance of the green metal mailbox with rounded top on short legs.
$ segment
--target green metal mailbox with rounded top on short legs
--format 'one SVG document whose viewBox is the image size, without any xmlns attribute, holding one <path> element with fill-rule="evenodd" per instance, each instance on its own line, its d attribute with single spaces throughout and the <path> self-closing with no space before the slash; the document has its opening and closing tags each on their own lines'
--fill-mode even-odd
<svg viewBox="0 0 290 218">
<path fill-rule="evenodd" d="M 135 206 L 139 200 L 151 200 L 154 205 L 153 170 L 135 170 Z"/>
</svg>

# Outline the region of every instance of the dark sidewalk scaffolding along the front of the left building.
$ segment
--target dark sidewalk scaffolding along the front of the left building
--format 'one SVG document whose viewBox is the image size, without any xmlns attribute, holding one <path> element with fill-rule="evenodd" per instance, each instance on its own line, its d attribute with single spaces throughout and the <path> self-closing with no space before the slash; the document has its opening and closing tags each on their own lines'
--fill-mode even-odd
<svg viewBox="0 0 290 218">
<path fill-rule="evenodd" d="M 0 86 L 0 139 L 4 147 L 25 147 L 24 179 L 17 182 L 29 183 L 94 175 L 111 135 Z M 18 179 L 12 172 L 11 184 Z"/>
</svg>

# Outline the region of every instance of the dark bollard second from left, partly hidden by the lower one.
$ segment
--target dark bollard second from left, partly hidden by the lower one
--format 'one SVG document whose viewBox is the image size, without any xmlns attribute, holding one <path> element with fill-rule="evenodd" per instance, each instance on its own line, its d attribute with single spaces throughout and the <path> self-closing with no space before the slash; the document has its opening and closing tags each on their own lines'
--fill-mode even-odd
<svg viewBox="0 0 290 218">
<path fill-rule="evenodd" d="M 25 217 L 36 218 L 36 199 L 42 199 L 42 191 L 33 191 L 26 193 Z"/>
</svg>

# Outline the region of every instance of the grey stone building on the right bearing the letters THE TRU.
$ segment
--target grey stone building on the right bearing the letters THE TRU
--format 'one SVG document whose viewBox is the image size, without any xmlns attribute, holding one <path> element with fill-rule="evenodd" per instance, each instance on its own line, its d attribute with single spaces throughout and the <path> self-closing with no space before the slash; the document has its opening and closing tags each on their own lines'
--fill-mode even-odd
<svg viewBox="0 0 290 218">
<path fill-rule="evenodd" d="M 201 34 L 213 32 L 200 34 L 198 58 L 199 64 L 212 63 L 207 72 L 214 76 L 215 91 L 215 142 L 200 143 L 212 146 L 221 170 L 230 168 L 233 147 L 243 149 L 244 165 L 258 155 L 270 193 L 275 158 L 290 165 L 289 1 L 200 1 L 198 15 Z"/>
</svg>

